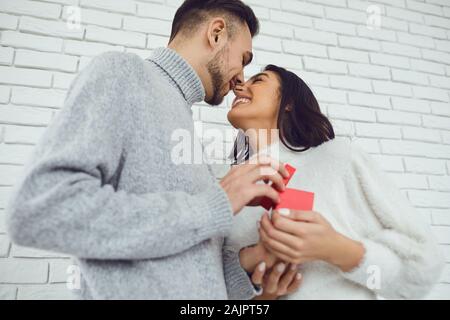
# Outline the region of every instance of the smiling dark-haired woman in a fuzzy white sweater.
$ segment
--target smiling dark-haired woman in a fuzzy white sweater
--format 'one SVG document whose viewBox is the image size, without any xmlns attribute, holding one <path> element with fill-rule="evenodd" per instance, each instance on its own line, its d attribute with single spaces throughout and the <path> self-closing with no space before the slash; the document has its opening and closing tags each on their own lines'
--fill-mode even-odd
<svg viewBox="0 0 450 320">
<path fill-rule="evenodd" d="M 424 297 L 443 266 L 427 223 L 369 155 L 335 139 L 308 86 L 269 65 L 235 94 L 228 120 L 246 133 L 250 150 L 235 144 L 238 162 L 252 153 L 274 156 L 297 169 L 289 188 L 315 193 L 314 211 L 270 217 L 259 207 L 236 216 L 232 245 L 247 260 L 242 253 L 260 253 L 242 264 L 263 257 L 280 270 L 298 268 L 302 285 L 286 299 Z"/>
</svg>

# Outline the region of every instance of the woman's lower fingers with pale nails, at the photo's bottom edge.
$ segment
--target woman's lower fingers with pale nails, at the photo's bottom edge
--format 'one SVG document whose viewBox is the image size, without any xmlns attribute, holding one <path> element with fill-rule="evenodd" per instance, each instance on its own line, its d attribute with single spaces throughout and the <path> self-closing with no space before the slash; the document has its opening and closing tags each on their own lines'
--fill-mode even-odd
<svg viewBox="0 0 450 320">
<path fill-rule="evenodd" d="M 255 300 L 275 300 L 297 291 L 300 287 L 302 275 L 298 272 L 297 265 L 277 263 L 267 273 L 265 271 L 266 266 L 263 262 L 252 275 L 252 282 L 261 286 L 263 290 Z"/>
</svg>

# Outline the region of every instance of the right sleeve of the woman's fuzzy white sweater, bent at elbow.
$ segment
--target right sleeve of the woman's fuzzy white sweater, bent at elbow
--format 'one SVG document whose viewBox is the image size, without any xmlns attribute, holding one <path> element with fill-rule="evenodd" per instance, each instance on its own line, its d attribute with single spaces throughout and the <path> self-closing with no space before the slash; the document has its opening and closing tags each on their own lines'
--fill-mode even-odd
<svg viewBox="0 0 450 320">
<path fill-rule="evenodd" d="M 351 150 L 350 177 L 382 229 L 359 239 L 366 250 L 363 260 L 342 273 L 383 298 L 422 298 L 443 268 L 431 228 L 374 159 L 356 145 Z"/>
</svg>

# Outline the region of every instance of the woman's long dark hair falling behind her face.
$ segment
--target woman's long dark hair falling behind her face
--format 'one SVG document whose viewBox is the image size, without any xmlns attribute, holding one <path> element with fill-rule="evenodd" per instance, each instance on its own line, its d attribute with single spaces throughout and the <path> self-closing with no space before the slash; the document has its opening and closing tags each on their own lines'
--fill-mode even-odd
<svg viewBox="0 0 450 320">
<path fill-rule="evenodd" d="M 268 65 L 264 71 L 274 72 L 280 81 L 280 108 L 277 128 L 281 142 L 290 150 L 303 152 L 312 147 L 334 139 L 331 122 L 321 112 L 319 103 L 308 85 L 295 73 L 275 65 Z M 242 140 L 242 138 L 241 138 Z M 247 140 L 245 141 L 247 142 Z M 237 154 L 248 159 L 248 146 L 235 141 L 233 156 L 235 163 L 240 163 Z M 241 150 L 239 150 L 241 149 Z"/>
</svg>

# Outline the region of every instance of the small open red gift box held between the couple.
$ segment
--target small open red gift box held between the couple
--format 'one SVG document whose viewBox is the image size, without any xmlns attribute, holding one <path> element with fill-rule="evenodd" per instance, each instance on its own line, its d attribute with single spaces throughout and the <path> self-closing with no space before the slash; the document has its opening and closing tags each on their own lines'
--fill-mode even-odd
<svg viewBox="0 0 450 320">
<path fill-rule="evenodd" d="M 286 170 L 289 172 L 289 177 L 283 179 L 285 185 L 288 184 L 289 180 L 295 173 L 295 168 L 286 164 Z M 314 205 L 314 193 L 307 192 L 297 189 L 285 189 L 283 192 L 279 192 L 280 194 L 280 203 L 275 205 L 270 198 L 263 198 L 261 201 L 261 206 L 270 210 L 271 208 L 275 210 L 279 210 L 282 208 L 291 209 L 291 210 L 306 210 L 310 211 L 313 209 Z"/>
</svg>

